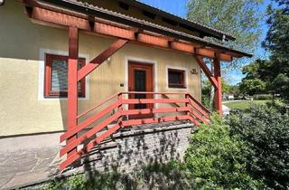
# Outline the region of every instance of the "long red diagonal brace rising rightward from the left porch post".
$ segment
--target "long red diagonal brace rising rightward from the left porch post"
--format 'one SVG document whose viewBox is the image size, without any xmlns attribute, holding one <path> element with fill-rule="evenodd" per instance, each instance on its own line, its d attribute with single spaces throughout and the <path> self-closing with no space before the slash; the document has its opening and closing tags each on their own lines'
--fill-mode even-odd
<svg viewBox="0 0 289 190">
<path fill-rule="evenodd" d="M 121 49 L 126 43 L 128 43 L 128 40 L 119 39 L 116 43 L 110 45 L 107 50 L 101 52 L 96 58 L 94 58 L 91 62 L 79 70 L 78 81 L 87 76 L 91 71 L 95 70 L 102 62 L 105 62 L 111 55 Z"/>
</svg>

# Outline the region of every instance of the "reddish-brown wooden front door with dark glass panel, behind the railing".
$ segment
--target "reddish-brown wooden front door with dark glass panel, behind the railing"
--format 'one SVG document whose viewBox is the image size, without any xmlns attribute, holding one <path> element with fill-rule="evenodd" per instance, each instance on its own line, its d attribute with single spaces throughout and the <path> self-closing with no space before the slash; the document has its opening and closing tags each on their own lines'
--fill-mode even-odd
<svg viewBox="0 0 289 190">
<path fill-rule="evenodd" d="M 128 90 L 154 91 L 153 64 L 128 62 Z M 153 94 L 131 94 L 129 99 L 153 99 Z M 130 104 L 128 109 L 153 109 L 154 104 Z M 151 118 L 153 114 L 135 115 L 130 118 Z"/>
</svg>

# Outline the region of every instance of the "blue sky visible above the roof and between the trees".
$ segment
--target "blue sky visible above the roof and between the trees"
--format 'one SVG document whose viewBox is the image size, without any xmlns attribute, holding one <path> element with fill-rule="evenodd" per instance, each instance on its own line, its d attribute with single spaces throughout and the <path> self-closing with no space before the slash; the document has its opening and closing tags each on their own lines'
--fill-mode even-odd
<svg viewBox="0 0 289 190">
<path fill-rule="evenodd" d="M 175 14 L 184 18 L 186 17 L 187 0 L 141 0 L 141 2 L 157 7 L 171 14 Z M 260 10 L 266 11 L 266 7 L 270 3 L 271 3 L 271 0 L 264 0 L 263 4 L 260 5 Z M 260 42 L 262 42 L 266 38 L 266 32 L 268 30 L 268 26 L 266 25 L 265 19 L 260 24 L 262 27 L 262 35 L 260 37 L 261 38 Z M 256 58 L 266 58 L 267 55 L 268 55 L 267 52 L 261 47 L 261 44 L 259 44 L 256 50 L 256 57 L 254 57 L 252 60 L 248 60 L 247 63 L 253 62 L 254 59 Z M 240 70 L 230 71 L 229 73 L 225 75 L 226 81 L 228 81 L 230 84 L 237 84 L 238 82 L 242 80 L 243 77 L 244 75 L 242 75 L 242 72 Z"/>
</svg>

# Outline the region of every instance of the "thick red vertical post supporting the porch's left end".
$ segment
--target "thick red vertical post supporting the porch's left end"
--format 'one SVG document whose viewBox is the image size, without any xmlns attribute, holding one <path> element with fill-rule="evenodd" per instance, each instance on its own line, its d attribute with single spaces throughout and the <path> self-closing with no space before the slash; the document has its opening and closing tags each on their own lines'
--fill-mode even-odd
<svg viewBox="0 0 289 190">
<path fill-rule="evenodd" d="M 68 130 L 76 128 L 78 125 L 78 59 L 79 59 L 79 29 L 69 28 L 69 62 L 68 62 L 68 104 L 67 104 L 67 127 Z M 72 136 L 67 140 L 67 144 L 77 137 Z M 68 153 L 70 157 L 76 153 L 77 148 L 73 148 Z"/>
</svg>

